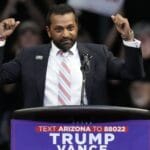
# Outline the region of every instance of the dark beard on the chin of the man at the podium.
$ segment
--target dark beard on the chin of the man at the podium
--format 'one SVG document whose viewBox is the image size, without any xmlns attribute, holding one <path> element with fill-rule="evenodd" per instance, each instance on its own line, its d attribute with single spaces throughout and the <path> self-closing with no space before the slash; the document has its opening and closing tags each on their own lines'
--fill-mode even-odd
<svg viewBox="0 0 150 150">
<path fill-rule="evenodd" d="M 60 41 L 53 40 L 54 44 L 63 52 L 67 52 L 74 45 L 76 39 L 63 39 Z"/>
</svg>

